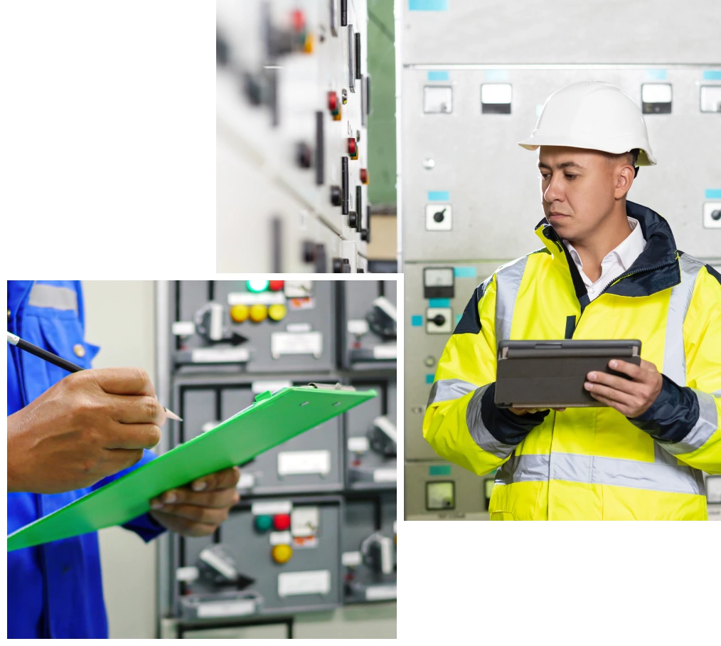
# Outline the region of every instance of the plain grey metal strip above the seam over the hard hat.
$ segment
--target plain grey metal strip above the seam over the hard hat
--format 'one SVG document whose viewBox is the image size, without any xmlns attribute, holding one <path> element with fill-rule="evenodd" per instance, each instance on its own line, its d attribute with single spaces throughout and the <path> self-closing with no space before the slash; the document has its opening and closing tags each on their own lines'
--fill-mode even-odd
<svg viewBox="0 0 721 646">
<path fill-rule="evenodd" d="M 719 60 L 714 0 L 449 0 L 402 9 L 404 63 L 709 63 Z"/>
</svg>

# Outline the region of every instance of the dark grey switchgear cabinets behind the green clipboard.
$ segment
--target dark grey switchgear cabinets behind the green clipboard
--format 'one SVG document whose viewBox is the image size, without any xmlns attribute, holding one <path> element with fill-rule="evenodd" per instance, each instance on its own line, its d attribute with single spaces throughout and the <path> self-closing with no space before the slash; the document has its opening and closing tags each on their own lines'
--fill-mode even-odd
<svg viewBox="0 0 721 646">
<path fill-rule="evenodd" d="M 342 383 L 378 397 L 240 465 L 214 536 L 161 544 L 162 616 L 188 628 L 394 601 L 394 281 L 174 281 L 159 330 L 177 423 L 165 450 L 255 396 Z"/>
</svg>

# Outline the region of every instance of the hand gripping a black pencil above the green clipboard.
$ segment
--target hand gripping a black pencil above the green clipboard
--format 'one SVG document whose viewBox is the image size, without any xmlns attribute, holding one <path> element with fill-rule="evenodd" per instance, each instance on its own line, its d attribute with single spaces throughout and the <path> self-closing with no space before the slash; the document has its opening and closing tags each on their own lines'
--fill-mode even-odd
<svg viewBox="0 0 721 646">
<path fill-rule="evenodd" d="M 82 370 L 7 418 L 8 492 L 56 494 L 133 466 L 165 411 L 140 368 Z"/>
</svg>

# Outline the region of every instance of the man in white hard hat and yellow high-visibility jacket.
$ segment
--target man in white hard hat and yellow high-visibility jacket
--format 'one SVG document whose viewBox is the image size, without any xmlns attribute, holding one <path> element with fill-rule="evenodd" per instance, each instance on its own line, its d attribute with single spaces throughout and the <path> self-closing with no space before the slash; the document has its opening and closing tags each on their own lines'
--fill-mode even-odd
<svg viewBox="0 0 721 646">
<path fill-rule="evenodd" d="M 640 108 L 603 82 L 549 97 L 533 134 L 543 246 L 475 290 L 446 344 L 423 420 L 443 458 L 497 469 L 491 520 L 706 520 L 721 472 L 721 276 L 627 201 L 656 163 Z M 590 372 L 607 407 L 495 406 L 498 341 L 640 339 L 624 379 Z M 552 375 L 549 375 L 552 378 Z"/>
</svg>

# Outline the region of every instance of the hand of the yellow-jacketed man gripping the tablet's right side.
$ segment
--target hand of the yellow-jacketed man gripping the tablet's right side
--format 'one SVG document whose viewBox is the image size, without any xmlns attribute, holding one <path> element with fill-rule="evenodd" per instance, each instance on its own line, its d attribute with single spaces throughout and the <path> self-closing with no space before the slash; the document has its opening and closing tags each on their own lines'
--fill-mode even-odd
<svg viewBox="0 0 721 646">
<path fill-rule="evenodd" d="M 614 360 L 611 370 L 629 375 L 631 380 L 606 372 L 589 372 L 585 389 L 598 401 L 608 404 L 627 417 L 638 417 L 656 401 L 663 387 L 663 377 L 653 363 L 641 359 L 641 365 Z"/>
</svg>

